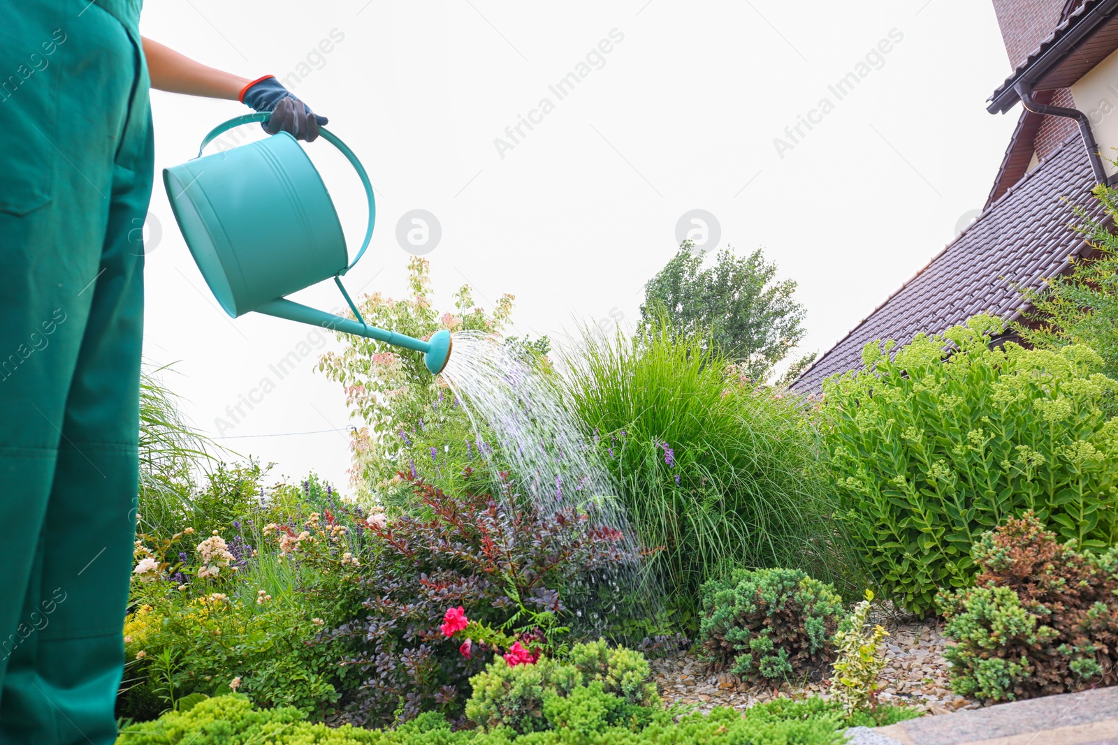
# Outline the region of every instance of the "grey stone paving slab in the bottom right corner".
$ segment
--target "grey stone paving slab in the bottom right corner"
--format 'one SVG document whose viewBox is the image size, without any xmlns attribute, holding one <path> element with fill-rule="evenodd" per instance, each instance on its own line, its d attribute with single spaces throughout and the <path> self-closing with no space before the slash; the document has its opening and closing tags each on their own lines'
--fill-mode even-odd
<svg viewBox="0 0 1118 745">
<path fill-rule="evenodd" d="M 1118 686 L 861 730 L 852 745 L 1118 745 Z"/>
</svg>

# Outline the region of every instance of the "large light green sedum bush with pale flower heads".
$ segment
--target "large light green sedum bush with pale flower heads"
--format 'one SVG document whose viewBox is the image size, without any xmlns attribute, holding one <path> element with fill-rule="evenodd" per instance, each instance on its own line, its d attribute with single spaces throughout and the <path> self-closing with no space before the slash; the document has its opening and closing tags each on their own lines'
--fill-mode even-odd
<svg viewBox="0 0 1118 745">
<path fill-rule="evenodd" d="M 824 382 L 840 509 L 872 580 L 925 614 L 939 588 L 972 583 L 970 546 L 1025 509 L 1064 539 L 1118 538 L 1118 383 L 1082 346 L 989 348 L 1002 324 L 972 318 Z M 951 348 L 945 361 L 944 350 Z"/>
</svg>

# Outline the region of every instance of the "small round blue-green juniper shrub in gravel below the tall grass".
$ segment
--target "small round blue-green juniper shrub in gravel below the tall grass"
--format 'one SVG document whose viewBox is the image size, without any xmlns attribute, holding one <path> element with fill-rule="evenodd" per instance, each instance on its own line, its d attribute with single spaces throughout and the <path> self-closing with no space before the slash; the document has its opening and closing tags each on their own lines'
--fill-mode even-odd
<svg viewBox="0 0 1118 745">
<path fill-rule="evenodd" d="M 784 678 L 834 657 L 834 588 L 799 570 L 736 570 L 702 588 L 699 643 L 742 677 Z"/>
</svg>

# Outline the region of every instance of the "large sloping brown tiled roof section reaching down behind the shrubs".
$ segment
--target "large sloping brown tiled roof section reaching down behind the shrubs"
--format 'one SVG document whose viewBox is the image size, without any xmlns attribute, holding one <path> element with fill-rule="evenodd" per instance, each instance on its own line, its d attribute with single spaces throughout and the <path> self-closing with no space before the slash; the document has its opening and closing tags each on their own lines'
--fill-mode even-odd
<svg viewBox="0 0 1118 745">
<path fill-rule="evenodd" d="M 1069 227 L 1076 219 L 1071 204 L 1088 207 L 1092 218 L 1101 217 L 1091 197 L 1093 187 L 1090 162 L 1076 134 L 816 360 L 792 388 L 819 391 L 824 378 L 861 367 L 868 342 L 907 342 L 979 313 L 1014 317 L 1022 305 L 1014 284 L 1039 287 L 1084 248 L 1081 236 Z"/>
</svg>

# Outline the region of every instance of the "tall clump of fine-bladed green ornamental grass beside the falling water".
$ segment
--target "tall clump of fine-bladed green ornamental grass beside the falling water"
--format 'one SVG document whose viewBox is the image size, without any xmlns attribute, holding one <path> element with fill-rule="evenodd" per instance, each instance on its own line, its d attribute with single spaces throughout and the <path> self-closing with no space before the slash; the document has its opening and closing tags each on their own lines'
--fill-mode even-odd
<svg viewBox="0 0 1118 745">
<path fill-rule="evenodd" d="M 699 588 L 737 566 L 842 576 L 823 515 L 819 447 L 792 395 L 759 388 L 698 337 L 663 324 L 586 329 L 563 398 L 613 470 L 669 605 L 693 621 Z"/>
</svg>

